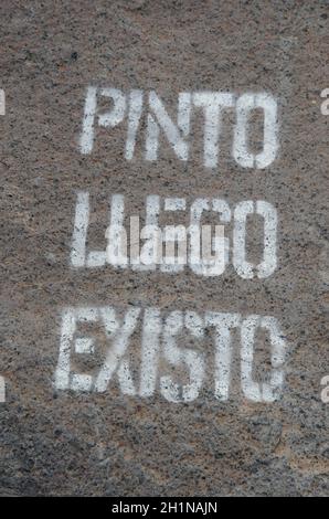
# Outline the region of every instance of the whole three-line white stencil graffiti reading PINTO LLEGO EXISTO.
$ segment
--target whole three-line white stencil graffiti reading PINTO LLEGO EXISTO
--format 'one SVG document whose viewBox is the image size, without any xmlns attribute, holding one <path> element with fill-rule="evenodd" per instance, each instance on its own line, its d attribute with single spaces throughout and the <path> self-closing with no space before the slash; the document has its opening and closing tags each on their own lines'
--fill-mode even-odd
<svg viewBox="0 0 329 519">
<path fill-rule="evenodd" d="M 142 146 L 142 157 L 156 161 L 166 142 L 177 159 L 185 162 L 197 145 L 192 136 L 198 131 L 192 125 L 200 126 L 201 120 L 202 163 L 215 168 L 221 160 L 221 149 L 226 145 L 223 133 L 227 112 L 235 116 L 233 131 L 230 129 L 234 161 L 242 168 L 267 168 L 278 153 L 278 107 L 268 93 L 238 96 L 227 92 L 181 92 L 174 107 L 153 91 L 125 93 L 118 88 L 89 86 L 79 151 L 89 155 L 97 149 L 98 128 L 106 128 L 110 134 L 119 127 L 125 133 L 126 160 L 140 156 L 137 148 Z M 253 145 L 256 113 L 263 118 L 262 147 L 257 151 Z M 142 128 L 145 134 L 140 136 Z M 73 268 L 109 265 L 118 269 L 179 274 L 189 267 L 198 276 L 210 277 L 224 274 L 231 263 L 243 279 L 264 279 L 277 268 L 278 218 L 276 209 L 266 201 L 246 200 L 232 206 L 220 198 L 197 198 L 188 204 L 180 195 L 150 194 L 146 198 L 144 226 L 140 229 L 139 215 L 130 215 L 128 229 L 126 199 L 114 193 L 106 222 L 102 222 L 104 243 L 95 250 L 91 230 L 93 203 L 87 191 L 77 193 L 70 255 Z M 172 213 L 178 213 L 188 223 L 160 227 L 159 222 L 169 213 L 170 220 Z M 216 222 L 214 232 L 211 225 L 204 224 L 209 213 Z M 259 220 L 259 216 L 263 253 L 252 261 L 247 250 L 247 221 Z M 89 330 L 93 326 L 103 329 L 106 351 L 103 348 L 102 354 L 98 336 L 96 340 L 93 331 L 82 331 L 86 325 Z M 261 371 L 263 368 L 255 353 L 259 330 L 268 338 L 270 360 L 269 370 L 268 362 L 267 368 L 264 366 L 262 380 L 255 374 L 256 364 Z M 213 347 L 211 362 L 209 348 L 204 346 L 208 340 Z M 78 368 L 76 359 L 85 356 L 93 359 L 96 368 Z M 227 401 L 232 398 L 234 377 L 238 377 L 240 392 L 245 399 L 269 403 L 282 394 L 285 360 L 286 342 L 278 321 L 269 316 L 216 311 L 201 315 L 188 310 L 161 315 L 157 307 L 128 307 L 121 315 L 112 306 L 70 307 L 62 314 L 55 388 L 104 393 L 116 384 L 126 395 L 150 398 L 159 392 L 167 401 L 180 403 L 198 399 L 211 380 L 214 396 Z M 139 363 L 138 369 L 134 362 Z"/>
</svg>

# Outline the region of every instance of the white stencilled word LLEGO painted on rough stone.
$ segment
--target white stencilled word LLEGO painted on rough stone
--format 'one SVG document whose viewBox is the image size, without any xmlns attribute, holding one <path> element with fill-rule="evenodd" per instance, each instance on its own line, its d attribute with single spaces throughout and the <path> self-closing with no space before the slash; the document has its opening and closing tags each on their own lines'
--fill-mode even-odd
<svg viewBox="0 0 329 519">
<path fill-rule="evenodd" d="M 161 211 L 188 211 L 190 224 L 187 227 L 164 225 L 160 229 Z M 240 202 L 232 211 L 229 203 L 221 199 L 197 199 L 188 208 L 184 198 L 149 195 L 146 199 L 146 225 L 140 229 L 139 218 L 131 216 L 129 241 L 124 226 L 125 198 L 114 194 L 110 198 L 104 251 L 87 251 L 89 212 L 89 194 L 77 193 L 71 248 L 71 265 L 75 268 L 112 265 L 134 271 L 159 268 L 163 273 L 178 274 L 189 266 L 194 274 L 209 277 L 225 272 L 231 253 L 235 272 L 244 279 L 266 278 L 277 267 L 277 212 L 270 203 L 262 200 Z M 202 225 L 205 212 L 215 215 L 217 224 L 214 225 L 214 233 L 211 225 Z M 262 216 L 264 222 L 263 258 L 258 264 L 246 260 L 246 219 L 255 214 Z M 231 222 L 232 215 L 233 235 L 230 240 L 225 236 L 225 225 Z"/>
</svg>

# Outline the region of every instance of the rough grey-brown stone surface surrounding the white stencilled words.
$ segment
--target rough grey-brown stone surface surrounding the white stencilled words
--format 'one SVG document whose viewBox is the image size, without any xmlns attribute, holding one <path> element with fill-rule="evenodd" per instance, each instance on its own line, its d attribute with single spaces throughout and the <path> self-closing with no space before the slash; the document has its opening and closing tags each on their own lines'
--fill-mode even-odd
<svg viewBox="0 0 329 519">
<path fill-rule="evenodd" d="M 329 119 L 319 109 L 328 2 L 3 0 L 0 13 L 0 492 L 328 495 Z M 168 103 L 182 91 L 269 91 L 279 99 L 279 157 L 244 170 L 226 153 L 210 171 L 198 150 L 187 166 L 163 144 L 157 162 L 141 151 L 127 162 L 124 128 L 105 130 L 82 157 L 89 84 L 156 89 Z M 74 272 L 77 189 L 104 206 L 123 193 L 135 213 L 150 193 L 267 200 L 279 214 L 278 269 L 262 282 L 232 268 L 215 280 Z M 283 399 L 219 403 L 205 388 L 176 405 L 159 393 L 123 396 L 115 384 L 103 395 L 56 393 L 61 309 L 86 304 L 273 315 L 289 343 Z"/>
</svg>

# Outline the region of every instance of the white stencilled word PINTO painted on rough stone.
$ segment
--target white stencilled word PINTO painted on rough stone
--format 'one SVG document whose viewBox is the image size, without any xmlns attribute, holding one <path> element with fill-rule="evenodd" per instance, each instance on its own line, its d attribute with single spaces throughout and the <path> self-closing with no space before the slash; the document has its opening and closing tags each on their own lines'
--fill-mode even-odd
<svg viewBox="0 0 329 519">
<path fill-rule="evenodd" d="M 99 106 L 108 99 L 112 106 L 108 112 Z M 251 116 L 256 109 L 263 110 L 264 131 L 263 150 L 254 153 L 250 149 Z M 127 137 L 125 158 L 132 160 L 139 124 L 146 112 L 145 158 L 157 160 L 160 134 L 162 133 L 179 160 L 187 161 L 190 156 L 191 116 L 193 110 L 202 110 L 203 124 L 203 163 L 215 168 L 220 158 L 222 116 L 225 110 L 235 110 L 236 121 L 232 144 L 232 157 L 243 168 L 266 168 L 277 156 L 278 123 L 277 102 L 268 93 L 243 94 L 237 97 L 232 93 L 220 92 L 181 92 L 178 95 L 177 120 L 168 114 L 160 96 L 151 91 L 144 93 L 134 89 L 128 94 L 117 88 L 89 86 L 86 91 L 83 128 L 79 139 L 79 151 L 88 155 L 95 145 L 96 128 L 115 128 L 126 120 Z"/>
</svg>

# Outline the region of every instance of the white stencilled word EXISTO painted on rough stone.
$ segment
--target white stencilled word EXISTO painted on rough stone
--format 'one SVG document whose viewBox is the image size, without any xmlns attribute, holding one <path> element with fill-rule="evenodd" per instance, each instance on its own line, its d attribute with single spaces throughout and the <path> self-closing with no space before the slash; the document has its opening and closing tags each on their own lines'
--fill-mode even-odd
<svg viewBox="0 0 329 519">
<path fill-rule="evenodd" d="M 77 373 L 72 358 L 95 354 L 92 337 L 79 337 L 78 325 L 100 322 L 108 341 L 107 352 L 97 373 Z M 128 350 L 131 336 L 141 324 L 139 383 L 134 380 Z M 116 379 L 123 394 L 151 396 L 157 389 L 169 402 L 191 402 L 199 396 L 208 378 L 206 358 L 202 351 L 205 329 L 213 329 L 214 368 L 213 392 L 222 401 L 230 398 L 232 384 L 232 331 L 240 330 L 241 391 L 253 402 L 273 402 L 280 396 L 284 385 L 286 343 L 274 317 L 256 315 L 244 318 L 240 314 L 174 310 L 161 318 L 159 308 L 128 308 L 119 318 L 114 307 L 65 308 L 62 314 L 62 335 L 59 363 L 55 372 L 57 390 L 105 392 Z M 255 332 L 267 330 L 270 342 L 270 373 L 263 382 L 254 380 Z M 179 338 L 197 341 L 198 349 L 184 347 Z M 136 346 L 135 346 L 136 348 Z M 161 362 L 160 362 L 161 361 Z M 188 383 L 179 383 L 160 372 L 162 362 L 185 373 Z"/>
</svg>

